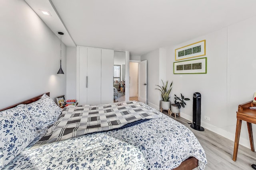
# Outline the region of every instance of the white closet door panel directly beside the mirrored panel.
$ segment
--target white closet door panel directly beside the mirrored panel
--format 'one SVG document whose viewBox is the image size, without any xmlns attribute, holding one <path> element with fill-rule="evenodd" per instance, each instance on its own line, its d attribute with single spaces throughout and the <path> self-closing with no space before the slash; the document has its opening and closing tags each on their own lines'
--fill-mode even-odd
<svg viewBox="0 0 256 170">
<path fill-rule="evenodd" d="M 114 51 L 101 50 L 101 104 L 114 102 Z"/>
</svg>

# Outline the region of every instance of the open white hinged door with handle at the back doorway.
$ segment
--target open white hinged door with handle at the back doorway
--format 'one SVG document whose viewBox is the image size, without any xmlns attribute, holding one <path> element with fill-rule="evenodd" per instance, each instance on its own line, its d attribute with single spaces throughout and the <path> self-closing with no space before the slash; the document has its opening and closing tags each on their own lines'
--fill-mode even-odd
<svg viewBox="0 0 256 170">
<path fill-rule="evenodd" d="M 138 100 L 147 104 L 147 61 L 139 62 L 139 92 Z"/>
</svg>

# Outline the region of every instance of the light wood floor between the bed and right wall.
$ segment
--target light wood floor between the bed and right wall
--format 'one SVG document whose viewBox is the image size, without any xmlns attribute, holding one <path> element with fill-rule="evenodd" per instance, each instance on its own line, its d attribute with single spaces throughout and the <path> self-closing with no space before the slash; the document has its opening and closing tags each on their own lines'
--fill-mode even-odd
<svg viewBox="0 0 256 170">
<path fill-rule="evenodd" d="M 163 113 L 168 115 L 168 111 L 166 110 L 164 110 Z M 188 127 L 196 135 L 206 152 L 208 164 L 205 170 L 253 170 L 251 164 L 255 164 L 256 152 L 252 152 L 250 149 L 239 145 L 237 160 L 234 162 L 232 160 L 234 149 L 233 141 L 208 129 L 196 131 L 192 129 L 187 123 L 187 120 L 182 117 L 170 117 Z M 195 170 L 198 170 L 198 168 Z"/>
</svg>

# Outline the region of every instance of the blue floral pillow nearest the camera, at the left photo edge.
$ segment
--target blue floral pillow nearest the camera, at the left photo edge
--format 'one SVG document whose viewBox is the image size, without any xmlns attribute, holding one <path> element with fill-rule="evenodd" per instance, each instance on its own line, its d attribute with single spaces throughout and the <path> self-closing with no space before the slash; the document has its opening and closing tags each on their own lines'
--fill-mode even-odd
<svg viewBox="0 0 256 170">
<path fill-rule="evenodd" d="M 36 127 L 26 105 L 0 112 L 0 169 L 36 137 Z"/>
</svg>

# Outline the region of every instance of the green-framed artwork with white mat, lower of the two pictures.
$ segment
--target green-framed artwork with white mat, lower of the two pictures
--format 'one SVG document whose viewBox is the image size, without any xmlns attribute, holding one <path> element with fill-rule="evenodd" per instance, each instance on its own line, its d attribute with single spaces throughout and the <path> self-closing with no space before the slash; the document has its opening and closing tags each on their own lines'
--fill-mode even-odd
<svg viewBox="0 0 256 170">
<path fill-rule="evenodd" d="M 207 57 L 173 63 L 174 74 L 206 74 Z"/>
</svg>

